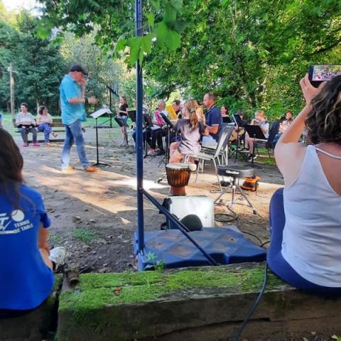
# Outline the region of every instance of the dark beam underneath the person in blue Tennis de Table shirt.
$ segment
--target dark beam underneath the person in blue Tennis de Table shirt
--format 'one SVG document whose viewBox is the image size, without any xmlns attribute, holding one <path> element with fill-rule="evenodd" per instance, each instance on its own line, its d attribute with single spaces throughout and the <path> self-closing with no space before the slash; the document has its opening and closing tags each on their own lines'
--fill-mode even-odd
<svg viewBox="0 0 341 341">
<path fill-rule="evenodd" d="M 0 341 L 43 340 L 56 329 L 58 296 L 62 276 L 55 275 L 55 289 L 36 310 L 18 318 L 0 319 Z"/>
</svg>

